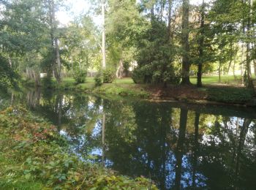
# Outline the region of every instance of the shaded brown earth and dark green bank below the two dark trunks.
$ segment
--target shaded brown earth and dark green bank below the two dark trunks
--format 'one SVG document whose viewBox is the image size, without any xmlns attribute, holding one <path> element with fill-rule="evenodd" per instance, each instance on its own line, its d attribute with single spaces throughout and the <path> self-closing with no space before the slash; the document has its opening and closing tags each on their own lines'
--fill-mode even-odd
<svg viewBox="0 0 256 190">
<path fill-rule="evenodd" d="M 249 107 L 256 106 L 255 94 L 240 86 L 146 86 L 145 91 L 150 93 L 154 101 L 182 101 L 201 104 L 237 104 Z"/>
</svg>

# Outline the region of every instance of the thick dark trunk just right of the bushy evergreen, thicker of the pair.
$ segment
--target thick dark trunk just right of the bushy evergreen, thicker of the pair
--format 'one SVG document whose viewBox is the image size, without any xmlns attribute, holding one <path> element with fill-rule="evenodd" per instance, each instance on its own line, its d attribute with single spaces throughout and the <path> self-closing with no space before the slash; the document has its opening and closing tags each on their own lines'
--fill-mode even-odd
<svg viewBox="0 0 256 190">
<path fill-rule="evenodd" d="M 183 0 L 182 4 L 182 80 L 181 85 L 191 85 L 189 80 L 189 0 Z"/>
</svg>

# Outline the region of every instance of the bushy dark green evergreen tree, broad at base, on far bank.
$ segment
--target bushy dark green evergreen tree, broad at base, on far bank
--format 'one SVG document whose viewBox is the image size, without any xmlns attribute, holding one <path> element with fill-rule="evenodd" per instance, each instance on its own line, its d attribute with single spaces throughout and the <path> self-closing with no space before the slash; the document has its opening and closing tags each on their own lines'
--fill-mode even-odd
<svg viewBox="0 0 256 190">
<path fill-rule="evenodd" d="M 179 83 L 174 66 L 176 47 L 170 44 L 165 23 L 151 20 L 151 25 L 137 42 L 138 68 L 133 73 L 135 83 Z"/>
</svg>

